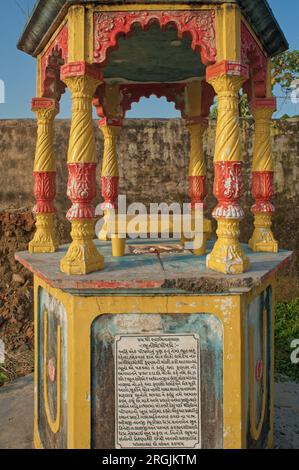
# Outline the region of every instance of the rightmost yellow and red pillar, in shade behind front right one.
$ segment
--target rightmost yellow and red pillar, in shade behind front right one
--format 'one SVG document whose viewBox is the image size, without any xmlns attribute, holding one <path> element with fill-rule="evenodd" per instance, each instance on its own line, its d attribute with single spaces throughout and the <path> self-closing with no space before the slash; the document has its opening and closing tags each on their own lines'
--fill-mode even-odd
<svg viewBox="0 0 299 470">
<path fill-rule="evenodd" d="M 255 204 L 254 232 L 249 247 L 256 252 L 278 252 L 278 243 L 271 230 L 272 214 L 275 208 L 271 203 L 273 189 L 273 158 L 271 151 L 271 118 L 276 109 L 275 98 L 256 99 L 251 103 L 255 120 L 255 142 L 252 164 L 252 196 Z"/>
</svg>

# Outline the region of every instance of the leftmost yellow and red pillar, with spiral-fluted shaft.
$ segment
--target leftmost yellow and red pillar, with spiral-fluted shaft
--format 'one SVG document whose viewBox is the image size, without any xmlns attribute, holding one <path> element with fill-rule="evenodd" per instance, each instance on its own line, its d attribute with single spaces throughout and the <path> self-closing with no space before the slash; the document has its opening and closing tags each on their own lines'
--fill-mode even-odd
<svg viewBox="0 0 299 470">
<path fill-rule="evenodd" d="M 33 98 L 32 110 L 37 116 L 37 144 L 34 161 L 33 209 L 36 217 L 36 233 L 29 243 L 30 253 L 53 253 L 58 248 L 54 229 L 56 209 L 56 162 L 53 151 L 54 119 L 58 104 L 49 98 Z"/>
</svg>

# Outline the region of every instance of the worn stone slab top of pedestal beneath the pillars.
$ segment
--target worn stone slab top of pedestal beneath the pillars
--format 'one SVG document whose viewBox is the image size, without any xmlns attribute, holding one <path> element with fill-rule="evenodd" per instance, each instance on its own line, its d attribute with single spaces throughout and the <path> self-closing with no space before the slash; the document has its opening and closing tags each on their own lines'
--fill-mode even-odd
<svg viewBox="0 0 299 470">
<path fill-rule="evenodd" d="M 87 275 L 67 275 L 60 271 L 66 254 L 64 245 L 56 253 L 16 253 L 15 258 L 49 286 L 74 295 L 122 294 L 242 294 L 262 285 L 290 261 L 293 253 L 253 253 L 242 245 L 250 259 L 249 271 L 225 275 L 206 267 L 206 256 L 194 256 L 178 241 L 128 241 L 126 255 L 114 258 L 111 242 L 96 241 L 105 257 L 105 269 Z M 214 242 L 209 241 L 207 252 Z"/>
</svg>

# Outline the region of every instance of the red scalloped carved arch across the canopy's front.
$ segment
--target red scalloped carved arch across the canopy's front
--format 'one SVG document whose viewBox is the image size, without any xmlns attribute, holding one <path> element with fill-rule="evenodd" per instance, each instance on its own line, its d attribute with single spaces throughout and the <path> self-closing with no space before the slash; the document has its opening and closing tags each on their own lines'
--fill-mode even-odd
<svg viewBox="0 0 299 470">
<path fill-rule="evenodd" d="M 146 30 L 153 22 L 161 29 L 173 24 L 179 38 L 189 34 L 192 48 L 199 50 L 205 65 L 216 61 L 215 11 L 131 11 L 94 13 L 94 60 L 105 65 L 108 51 L 117 47 L 118 35 L 128 36 L 132 27 L 139 24 Z"/>
</svg>

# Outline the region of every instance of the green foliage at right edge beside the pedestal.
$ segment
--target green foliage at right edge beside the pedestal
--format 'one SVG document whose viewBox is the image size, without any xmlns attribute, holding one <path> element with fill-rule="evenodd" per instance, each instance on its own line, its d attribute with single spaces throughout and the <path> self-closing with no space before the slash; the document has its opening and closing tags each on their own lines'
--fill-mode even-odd
<svg viewBox="0 0 299 470">
<path fill-rule="evenodd" d="M 292 364 L 291 342 L 299 339 L 299 298 L 276 306 L 275 369 L 299 382 L 299 364 Z"/>
</svg>

